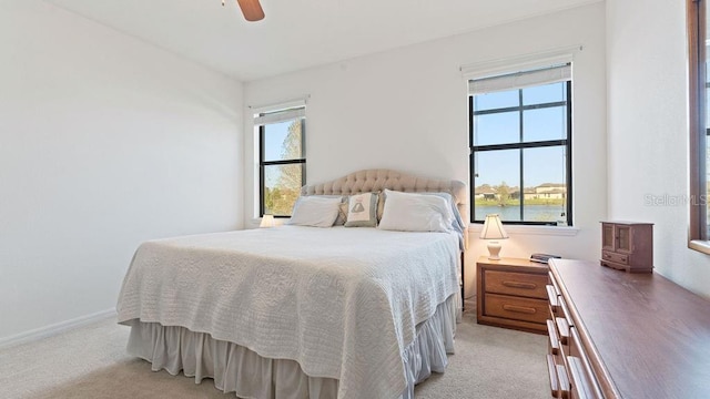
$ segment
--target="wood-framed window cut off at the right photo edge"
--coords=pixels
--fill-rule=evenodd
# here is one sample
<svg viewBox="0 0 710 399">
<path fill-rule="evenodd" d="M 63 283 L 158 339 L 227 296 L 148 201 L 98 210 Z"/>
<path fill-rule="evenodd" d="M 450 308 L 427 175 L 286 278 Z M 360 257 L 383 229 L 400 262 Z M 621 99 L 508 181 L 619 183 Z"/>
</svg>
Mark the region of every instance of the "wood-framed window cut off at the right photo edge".
<svg viewBox="0 0 710 399">
<path fill-rule="evenodd" d="M 708 79 L 708 7 L 706 0 L 687 0 L 688 9 L 688 65 L 689 65 L 689 211 L 688 246 L 710 254 L 710 212 L 708 212 L 708 121 L 710 114 L 710 80 Z"/>
</svg>

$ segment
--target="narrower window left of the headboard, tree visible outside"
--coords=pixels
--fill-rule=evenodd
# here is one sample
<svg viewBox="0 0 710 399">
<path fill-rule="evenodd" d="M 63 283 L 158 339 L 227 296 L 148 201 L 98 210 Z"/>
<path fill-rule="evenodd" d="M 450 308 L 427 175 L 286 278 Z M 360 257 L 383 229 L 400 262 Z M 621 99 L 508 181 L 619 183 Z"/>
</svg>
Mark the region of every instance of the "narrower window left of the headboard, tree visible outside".
<svg viewBox="0 0 710 399">
<path fill-rule="evenodd" d="M 305 108 L 290 108 L 254 115 L 258 126 L 260 216 L 291 216 L 306 182 Z"/>
</svg>

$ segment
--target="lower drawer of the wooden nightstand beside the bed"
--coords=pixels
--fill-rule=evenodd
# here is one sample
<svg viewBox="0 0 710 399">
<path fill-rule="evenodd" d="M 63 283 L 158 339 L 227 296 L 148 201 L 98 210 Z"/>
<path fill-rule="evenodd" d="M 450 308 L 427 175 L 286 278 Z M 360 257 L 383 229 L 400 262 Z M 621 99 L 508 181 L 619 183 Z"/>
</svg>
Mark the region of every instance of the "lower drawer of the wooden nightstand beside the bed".
<svg viewBox="0 0 710 399">
<path fill-rule="evenodd" d="M 497 294 L 485 294 L 486 316 L 504 317 L 514 320 L 524 320 L 547 325 L 549 305 L 547 300 L 509 297 Z"/>
</svg>

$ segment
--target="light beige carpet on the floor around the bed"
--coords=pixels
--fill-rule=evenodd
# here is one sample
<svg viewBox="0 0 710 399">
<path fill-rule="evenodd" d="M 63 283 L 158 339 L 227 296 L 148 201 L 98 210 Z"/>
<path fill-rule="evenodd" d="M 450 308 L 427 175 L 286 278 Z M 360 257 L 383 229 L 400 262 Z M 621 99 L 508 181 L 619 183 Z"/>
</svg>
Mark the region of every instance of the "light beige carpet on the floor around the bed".
<svg viewBox="0 0 710 399">
<path fill-rule="evenodd" d="M 469 307 L 470 309 L 471 307 Z M 1 398 L 235 398 L 211 379 L 166 371 L 125 354 L 129 328 L 114 319 L 0 351 Z M 549 398 L 547 337 L 481 326 L 465 313 L 456 354 L 443 375 L 415 389 L 416 398 Z"/>
</svg>

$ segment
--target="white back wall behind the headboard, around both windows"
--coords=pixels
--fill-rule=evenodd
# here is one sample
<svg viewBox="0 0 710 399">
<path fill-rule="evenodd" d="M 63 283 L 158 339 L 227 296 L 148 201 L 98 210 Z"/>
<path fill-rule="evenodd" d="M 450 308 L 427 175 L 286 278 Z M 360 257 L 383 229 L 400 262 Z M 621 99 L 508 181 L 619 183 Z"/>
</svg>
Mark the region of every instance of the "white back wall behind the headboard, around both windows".
<svg viewBox="0 0 710 399">
<path fill-rule="evenodd" d="M 467 182 L 467 85 L 459 66 L 576 44 L 584 45 L 574 61 L 574 215 L 579 232 L 557 236 L 517 228 L 503 255 L 549 252 L 598 259 L 599 221 L 607 213 L 604 3 L 250 82 L 245 105 L 311 94 L 308 183 L 369 167 Z M 244 122 L 245 132 L 252 132 L 251 121 Z M 257 162 L 250 133 L 244 147 L 248 221 L 255 215 Z M 468 264 L 485 250 L 473 238 Z M 468 276 L 473 270 L 469 266 Z M 473 293 L 473 280 L 467 280 Z"/>
</svg>

